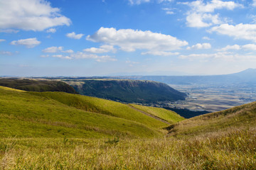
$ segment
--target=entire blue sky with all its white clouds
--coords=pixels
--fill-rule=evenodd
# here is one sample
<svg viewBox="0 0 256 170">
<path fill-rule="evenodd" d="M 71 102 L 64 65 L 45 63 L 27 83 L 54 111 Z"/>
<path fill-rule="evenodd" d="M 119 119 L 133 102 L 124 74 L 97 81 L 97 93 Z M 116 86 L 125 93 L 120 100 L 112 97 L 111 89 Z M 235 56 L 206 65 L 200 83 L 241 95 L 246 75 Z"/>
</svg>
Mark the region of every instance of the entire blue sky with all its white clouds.
<svg viewBox="0 0 256 170">
<path fill-rule="evenodd" d="M 0 0 L 0 76 L 256 68 L 256 0 Z"/>
</svg>

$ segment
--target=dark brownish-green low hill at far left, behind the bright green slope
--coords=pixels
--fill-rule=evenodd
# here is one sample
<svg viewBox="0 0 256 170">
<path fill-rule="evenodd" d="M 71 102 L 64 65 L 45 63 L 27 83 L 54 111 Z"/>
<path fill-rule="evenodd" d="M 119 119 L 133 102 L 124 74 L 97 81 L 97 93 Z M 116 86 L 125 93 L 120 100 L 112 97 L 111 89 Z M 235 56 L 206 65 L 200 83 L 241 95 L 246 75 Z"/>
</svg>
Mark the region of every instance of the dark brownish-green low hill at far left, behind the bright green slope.
<svg viewBox="0 0 256 170">
<path fill-rule="evenodd" d="M 76 94 L 72 86 L 62 81 L 38 80 L 38 79 L 0 79 L 0 86 L 24 91 L 63 91 Z"/>
</svg>

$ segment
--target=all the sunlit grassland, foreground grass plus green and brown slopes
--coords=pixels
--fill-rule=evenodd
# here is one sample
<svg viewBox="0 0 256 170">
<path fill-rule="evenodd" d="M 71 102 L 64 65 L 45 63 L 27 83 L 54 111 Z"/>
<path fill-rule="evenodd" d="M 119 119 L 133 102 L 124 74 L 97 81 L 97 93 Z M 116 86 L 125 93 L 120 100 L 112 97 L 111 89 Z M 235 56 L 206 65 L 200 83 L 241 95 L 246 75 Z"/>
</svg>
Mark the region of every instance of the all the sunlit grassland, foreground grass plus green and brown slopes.
<svg viewBox="0 0 256 170">
<path fill-rule="evenodd" d="M 103 99 L 0 94 L 0 169 L 256 169 L 256 103 L 188 120 L 132 105 L 169 126 Z"/>
</svg>

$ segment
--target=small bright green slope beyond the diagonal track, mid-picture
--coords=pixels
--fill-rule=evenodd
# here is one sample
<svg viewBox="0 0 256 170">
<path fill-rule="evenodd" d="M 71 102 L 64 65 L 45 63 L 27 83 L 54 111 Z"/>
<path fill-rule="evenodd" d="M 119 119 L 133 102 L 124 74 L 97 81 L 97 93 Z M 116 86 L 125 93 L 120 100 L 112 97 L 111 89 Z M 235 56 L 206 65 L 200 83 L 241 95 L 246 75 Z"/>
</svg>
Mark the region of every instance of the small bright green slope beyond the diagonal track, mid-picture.
<svg viewBox="0 0 256 170">
<path fill-rule="evenodd" d="M 178 115 L 174 111 L 169 111 L 164 108 L 154 108 L 154 107 L 141 106 L 141 105 L 135 105 L 135 104 L 129 104 L 129 105 L 131 105 L 134 108 L 137 108 L 141 111 L 144 111 L 146 113 L 154 115 L 158 118 L 166 120 L 169 123 L 177 123 L 182 120 L 185 120 L 185 118 L 181 117 L 181 115 Z"/>
</svg>

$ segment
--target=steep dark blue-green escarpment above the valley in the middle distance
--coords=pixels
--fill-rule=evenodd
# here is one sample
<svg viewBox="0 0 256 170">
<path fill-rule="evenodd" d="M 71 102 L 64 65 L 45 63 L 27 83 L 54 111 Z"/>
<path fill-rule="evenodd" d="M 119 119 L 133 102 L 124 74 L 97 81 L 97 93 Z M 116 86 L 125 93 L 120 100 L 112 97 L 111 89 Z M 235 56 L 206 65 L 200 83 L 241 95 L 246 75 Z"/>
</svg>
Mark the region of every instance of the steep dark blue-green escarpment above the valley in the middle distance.
<svg viewBox="0 0 256 170">
<path fill-rule="evenodd" d="M 156 81 L 86 79 L 66 81 L 79 94 L 126 103 L 157 103 L 184 100 L 186 94 Z"/>
</svg>

